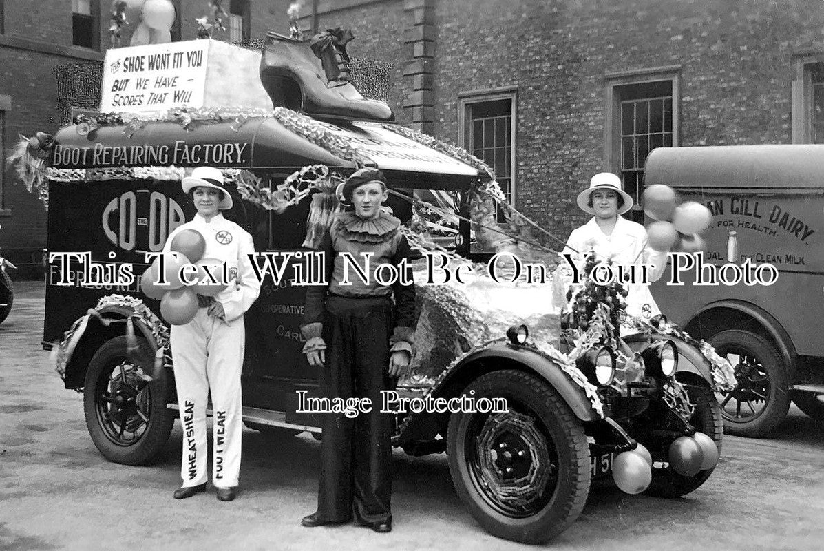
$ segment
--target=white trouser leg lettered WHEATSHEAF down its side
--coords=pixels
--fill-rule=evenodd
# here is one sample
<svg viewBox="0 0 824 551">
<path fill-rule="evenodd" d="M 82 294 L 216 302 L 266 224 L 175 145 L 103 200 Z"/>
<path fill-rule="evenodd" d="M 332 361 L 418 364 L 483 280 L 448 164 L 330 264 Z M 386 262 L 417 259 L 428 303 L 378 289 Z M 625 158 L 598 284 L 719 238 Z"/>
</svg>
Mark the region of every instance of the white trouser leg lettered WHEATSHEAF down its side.
<svg viewBox="0 0 824 551">
<path fill-rule="evenodd" d="M 175 360 L 175 385 L 183 429 L 180 477 L 183 486 L 198 486 L 207 479 L 206 379 L 207 336 L 202 327 L 206 308 L 200 308 L 190 323 L 171 326 L 171 354 Z"/>
</svg>

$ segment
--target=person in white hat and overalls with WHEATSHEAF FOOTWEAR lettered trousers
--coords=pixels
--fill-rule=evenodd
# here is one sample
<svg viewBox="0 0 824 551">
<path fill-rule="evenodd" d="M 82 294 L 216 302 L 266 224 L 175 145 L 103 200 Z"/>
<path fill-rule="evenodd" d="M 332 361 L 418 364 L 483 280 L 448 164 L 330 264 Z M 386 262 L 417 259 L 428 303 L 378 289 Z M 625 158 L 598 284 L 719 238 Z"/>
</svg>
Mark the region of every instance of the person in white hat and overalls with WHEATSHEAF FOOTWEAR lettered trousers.
<svg viewBox="0 0 824 551">
<path fill-rule="evenodd" d="M 178 233 L 197 230 L 206 240 L 204 258 L 225 261 L 230 281 L 214 299 L 198 295 L 201 308 L 190 323 L 171 326 L 183 428 L 183 485 L 175 491 L 175 498 L 192 497 L 206 489 L 206 404 L 211 389 L 212 483 L 218 499 L 231 502 L 241 468 L 243 314 L 260 294 L 260 282 L 247 256 L 255 252 L 255 246 L 249 233 L 219 212 L 232 208 L 232 197 L 223 189 L 222 172 L 212 167 L 195 168 L 191 177 L 183 179 L 183 191 L 190 193 L 198 214 L 169 235 L 164 251 L 169 251 Z"/>
</svg>

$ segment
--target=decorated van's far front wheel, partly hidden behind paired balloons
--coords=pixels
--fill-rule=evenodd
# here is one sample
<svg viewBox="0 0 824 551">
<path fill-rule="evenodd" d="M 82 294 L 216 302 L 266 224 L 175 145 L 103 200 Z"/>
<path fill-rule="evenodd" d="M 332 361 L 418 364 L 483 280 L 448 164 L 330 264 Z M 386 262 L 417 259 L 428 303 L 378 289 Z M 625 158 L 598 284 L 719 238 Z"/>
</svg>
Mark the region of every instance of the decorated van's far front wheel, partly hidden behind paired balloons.
<svg viewBox="0 0 824 551">
<path fill-rule="evenodd" d="M 721 438 L 723 436 L 723 417 L 721 406 L 715 399 L 712 390 L 707 387 L 685 385 L 691 403 L 695 404 L 695 411 L 690 417 L 690 424 L 696 431 L 703 432 L 715 442 L 721 453 Z M 715 468 L 699 471 L 691 477 L 685 477 L 672 469 L 653 469 L 653 481 L 645 491 L 650 496 L 681 497 L 694 491 L 707 481 Z"/>
</svg>

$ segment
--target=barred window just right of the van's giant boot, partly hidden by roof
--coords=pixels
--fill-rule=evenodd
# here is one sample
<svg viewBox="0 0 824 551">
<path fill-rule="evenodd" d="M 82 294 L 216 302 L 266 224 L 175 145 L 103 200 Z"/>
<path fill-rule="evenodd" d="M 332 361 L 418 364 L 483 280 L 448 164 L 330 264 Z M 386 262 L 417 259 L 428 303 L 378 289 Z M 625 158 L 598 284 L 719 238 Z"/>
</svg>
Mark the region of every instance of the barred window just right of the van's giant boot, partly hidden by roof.
<svg viewBox="0 0 824 551">
<path fill-rule="evenodd" d="M 515 206 L 515 120 L 517 96 L 514 90 L 461 94 L 459 118 L 461 139 L 467 151 L 486 162 L 495 172 L 509 205 Z M 498 212 L 499 222 L 506 221 Z"/>
</svg>

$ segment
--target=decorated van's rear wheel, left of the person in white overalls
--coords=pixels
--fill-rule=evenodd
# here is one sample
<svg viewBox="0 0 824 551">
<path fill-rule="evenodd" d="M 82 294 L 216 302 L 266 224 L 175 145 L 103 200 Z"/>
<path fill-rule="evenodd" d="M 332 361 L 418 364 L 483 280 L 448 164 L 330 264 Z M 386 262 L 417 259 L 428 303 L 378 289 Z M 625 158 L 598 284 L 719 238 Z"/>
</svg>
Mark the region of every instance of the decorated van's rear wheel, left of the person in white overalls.
<svg viewBox="0 0 824 551">
<path fill-rule="evenodd" d="M 138 338 L 143 372 L 154 354 Z M 83 410 L 91 440 L 106 459 L 126 465 L 145 464 L 169 439 L 175 413 L 166 407 L 173 381 L 164 371 L 145 384 L 126 355 L 126 337 L 105 341 L 89 362 L 83 389 Z"/>
</svg>

